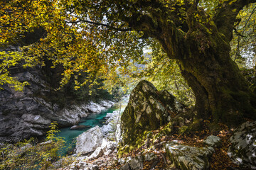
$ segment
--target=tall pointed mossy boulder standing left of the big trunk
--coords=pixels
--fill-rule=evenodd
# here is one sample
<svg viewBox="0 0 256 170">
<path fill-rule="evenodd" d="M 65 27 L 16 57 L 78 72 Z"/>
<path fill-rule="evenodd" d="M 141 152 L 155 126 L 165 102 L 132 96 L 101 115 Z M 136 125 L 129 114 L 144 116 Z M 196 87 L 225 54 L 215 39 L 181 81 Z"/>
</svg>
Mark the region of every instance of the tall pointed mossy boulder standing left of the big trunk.
<svg viewBox="0 0 256 170">
<path fill-rule="evenodd" d="M 145 130 L 156 130 L 169 122 L 183 105 L 168 91 L 157 91 L 149 81 L 140 81 L 132 90 L 122 113 L 121 129 L 124 144 L 135 145 Z"/>
</svg>

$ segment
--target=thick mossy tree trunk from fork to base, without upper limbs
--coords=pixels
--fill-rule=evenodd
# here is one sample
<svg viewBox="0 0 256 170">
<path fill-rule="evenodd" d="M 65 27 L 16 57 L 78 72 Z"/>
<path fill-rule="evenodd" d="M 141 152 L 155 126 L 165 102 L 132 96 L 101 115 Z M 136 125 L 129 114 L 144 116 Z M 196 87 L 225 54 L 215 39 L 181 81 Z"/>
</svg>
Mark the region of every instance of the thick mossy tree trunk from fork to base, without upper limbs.
<svg viewBox="0 0 256 170">
<path fill-rule="evenodd" d="M 256 96 L 231 60 L 229 43 L 217 29 L 214 32 L 199 28 L 187 33 L 181 42 L 173 35 L 166 37 L 169 33 L 157 38 L 168 56 L 178 60 L 181 74 L 193 89 L 197 118 L 212 118 L 230 126 L 245 118 L 255 120 Z"/>
</svg>

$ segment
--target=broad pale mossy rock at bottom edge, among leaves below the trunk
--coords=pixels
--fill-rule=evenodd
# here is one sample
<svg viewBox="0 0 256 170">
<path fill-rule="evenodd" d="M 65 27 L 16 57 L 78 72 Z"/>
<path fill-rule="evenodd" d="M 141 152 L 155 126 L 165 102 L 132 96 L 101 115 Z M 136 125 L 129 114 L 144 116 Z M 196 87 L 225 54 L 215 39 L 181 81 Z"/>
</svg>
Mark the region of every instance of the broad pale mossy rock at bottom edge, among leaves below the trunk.
<svg viewBox="0 0 256 170">
<path fill-rule="evenodd" d="M 171 162 L 181 170 L 208 169 L 208 158 L 214 152 L 213 147 L 189 147 L 178 142 L 170 142 L 165 148 Z"/>
</svg>

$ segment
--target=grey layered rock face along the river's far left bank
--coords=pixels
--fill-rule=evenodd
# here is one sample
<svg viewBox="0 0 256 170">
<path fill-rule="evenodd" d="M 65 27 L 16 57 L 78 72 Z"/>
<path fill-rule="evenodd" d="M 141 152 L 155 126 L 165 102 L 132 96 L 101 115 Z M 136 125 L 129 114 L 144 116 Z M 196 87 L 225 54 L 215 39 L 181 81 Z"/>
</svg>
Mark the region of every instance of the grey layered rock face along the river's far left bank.
<svg viewBox="0 0 256 170">
<path fill-rule="evenodd" d="M 18 142 L 31 136 L 41 136 L 51 122 L 59 126 L 71 126 L 90 112 L 100 112 L 113 105 L 111 101 L 101 104 L 90 102 L 60 108 L 47 101 L 48 84 L 40 69 L 17 70 L 14 76 L 19 81 L 28 81 L 23 91 L 15 91 L 9 85 L 0 91 L 0 142 Z M 97 109 L 96 109 L 97 108 Z"/>
</svg>

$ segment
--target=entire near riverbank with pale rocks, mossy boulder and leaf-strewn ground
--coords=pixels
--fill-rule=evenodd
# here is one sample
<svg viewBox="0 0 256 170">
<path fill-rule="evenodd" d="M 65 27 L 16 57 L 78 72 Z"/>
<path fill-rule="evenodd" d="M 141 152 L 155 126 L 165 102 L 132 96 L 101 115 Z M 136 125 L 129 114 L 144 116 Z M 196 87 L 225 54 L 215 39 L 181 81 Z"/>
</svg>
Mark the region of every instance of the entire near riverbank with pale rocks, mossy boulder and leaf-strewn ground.
<svg viewBox="0 0 256 170">
<path fill-rule="evenodd" d="M 161 114 L 164 116 L 167 114 L 166 118 L 168 118 L 168 114 L 174 114 L 171 111 L 179 112 L 178 108 L 181 108 L 181 105 L 174 96 L 167 94 L 166 91 L 159 93 L 153 87 L 149 82 L 143 81 L 132 91 L 131 96 L 135 97 L 130 97 L 128 106 L 122 113 L 121 129 L 116 113 L 108 115 L 110 116 L 107 120 L 109 124 L 102 128 L 92 128 L 80 135 L 77 140 L 76 154 L 72 156 L 73 163 L 62 169 L 255 169 L 255 122 L 246 122 L 235 130 L 223 127 L 218 132 L 210 132 L 205 125 L 202 125 L 201 132 L 184 135 L 183 129 L 191 120 L 177 115 L 178 117 L 171 118 L 167 125 L 144 130 L 141 135 L 129 133 L 133 128 L 138 130 L 135 124 L 129 125 L 131 130 L 124 131 L 125 126 L 131 121 L 136 121 L 138 125 L 148 121 L 142 119 L 145 110 L 147 115 L 152 116 L 156 113 L 159 115 L 158 119 L 154 119 L 154 125 L 161 123 Z M 147 96 L 151 100 L 146 101 L 147 98 L 143 99 L 143 96 L 148 94 L 148 91 L 152 97 Z M 154 92 L 164 93 L 166 97 L 158 98 Z M 140 97 L 136 97 L 138 94 Z M 170 100 L 169 97 L 172 99 Z M 166 107 L 163 100 L 173 102 L 169 103 L 170 107 Z M 144 107 L 141 107 L 142 104 Z M 131 109 L 131 106 L 134 109 Z M 149 111 L 144 108 L 153 109 Z M 166 109 L 171 111 L 166 112 Z M 124 123 L 128 121 L 123 119 L 124 116 L 131 118 L 129 122 Z M 174 123 L 176 129 L 172 127 Z M 120 130 L 123 131 L 120 132 Z M 137 141 L 125 142 L 132 137 L 131 135 L 135 135 L 134 139 Z M 129 152 L 124 152 L 125 150 Z"/>
</svg>

